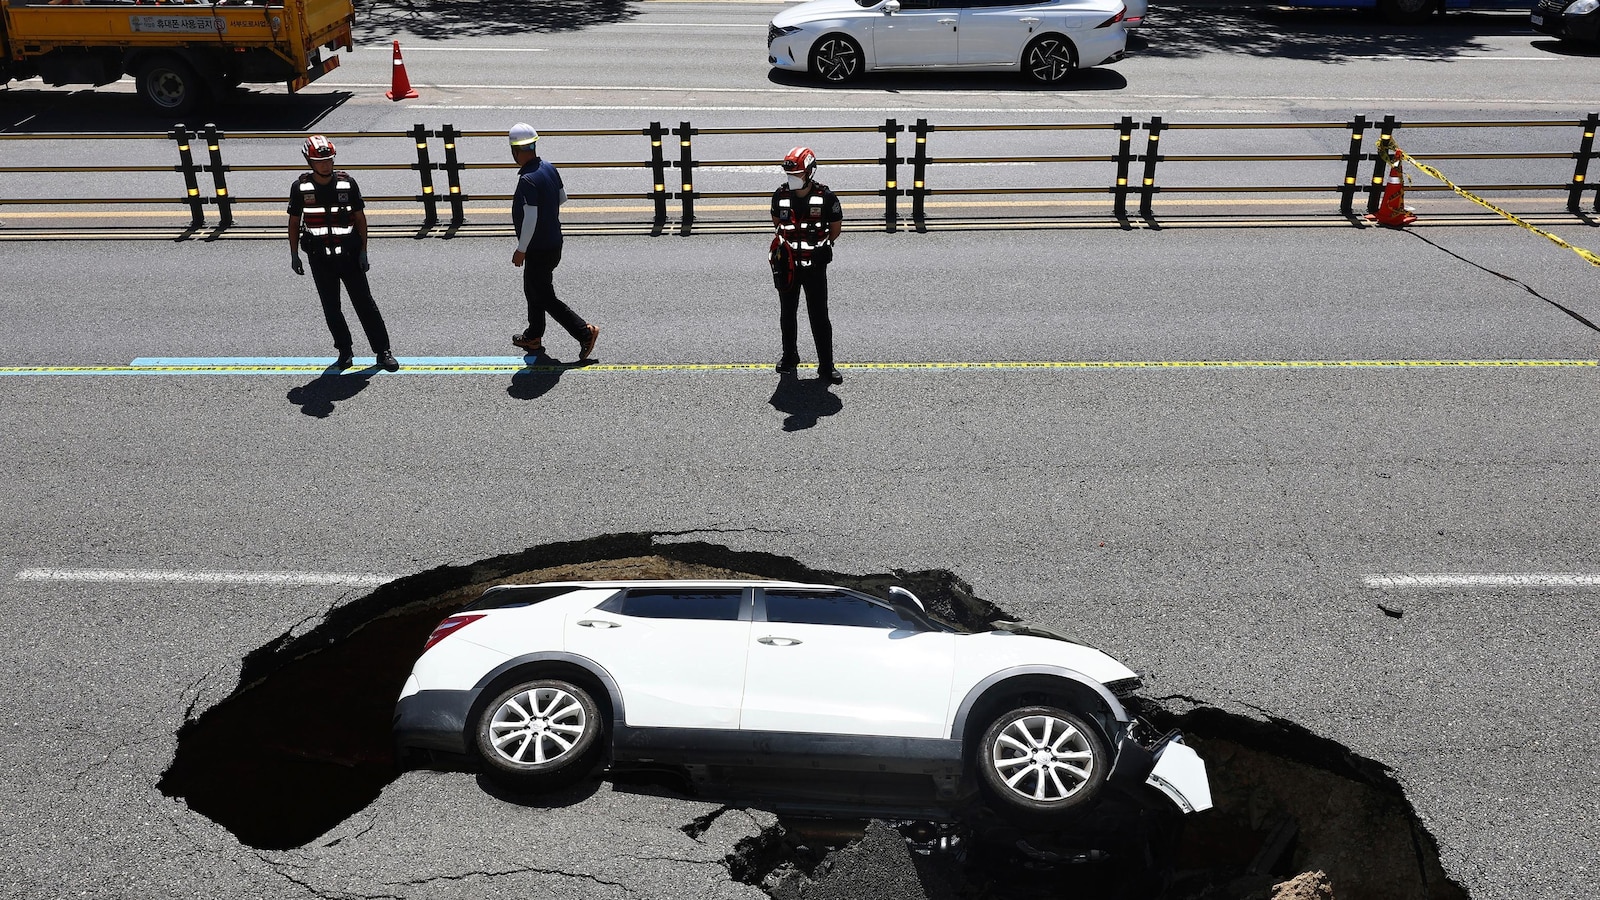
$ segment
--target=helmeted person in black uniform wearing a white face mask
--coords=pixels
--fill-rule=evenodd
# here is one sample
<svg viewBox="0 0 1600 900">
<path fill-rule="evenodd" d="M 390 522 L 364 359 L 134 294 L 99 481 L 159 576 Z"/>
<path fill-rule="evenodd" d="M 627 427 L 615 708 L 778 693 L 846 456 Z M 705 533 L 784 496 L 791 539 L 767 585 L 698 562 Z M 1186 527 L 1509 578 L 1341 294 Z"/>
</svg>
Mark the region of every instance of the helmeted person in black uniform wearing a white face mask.
<svg viewBox="0 0 1600 900">
<path fill-rule="evenodd" d="M 795 322 L 800 290 L 816 341 L 816 376 L 830 384 L 843 384 L 845 376 L 834 368 L 834 325 L 827 319 L 827 264 L 834 259 L 834 242 L 843 227 L 845 211 L 827 184 L 816 181 L 816 154 L 795 147 L 784 157 L 786 183 L 773 192 L 771 266 L 778 287 L 778 328 L 784 351 L 778 372 L 789 373 L 800 365 L 795 349 Z"/>
</svg>

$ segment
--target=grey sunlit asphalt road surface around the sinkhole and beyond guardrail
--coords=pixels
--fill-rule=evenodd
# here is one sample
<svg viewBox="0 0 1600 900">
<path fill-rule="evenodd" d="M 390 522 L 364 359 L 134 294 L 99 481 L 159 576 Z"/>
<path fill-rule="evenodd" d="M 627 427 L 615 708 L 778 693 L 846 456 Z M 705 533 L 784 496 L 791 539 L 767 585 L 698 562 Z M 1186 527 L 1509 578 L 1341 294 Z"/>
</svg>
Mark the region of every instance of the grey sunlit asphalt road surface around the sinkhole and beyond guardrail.
<svg viewBox="0 0 1600 900">
<path fill-rule="evenodd" d="M 571 98 L 595 96 L 589 85 L 627 88 L 634 72 L 619 61 L 637 54 L 629 40 L 648 37 L 651 16 L 742 26 L 768 14 L 626 10 L 626 22 L 584 32 L 456 37 L 547 45 L 565 53 L 573 86 L 472 88 L 472 102 L 438 114 L 490 128 L 579 106 Z M 1379 40 L 1326 13 L 1306 21 Z M 1547 53 L 1510 26 L 1482 37 L 1459 21 L 1406 32 L 1403 50 Z M 589 51 L 595 35 L 605 40 Z M 738 86 L 755 72 L 762 91 L 790 90 L 765 82 L 758 61 L 688 48 L 693 64 L 674 69 L 683 85 Z M 1216 93 L 1251 77 L 1206 77 L 1219 53 L 1150 54 L 1189 67 L 1203 85 L 1195 99 L 1189 86 L 1134 86 L 1142 72 L 1122 64 L 1128 86 L 1093 102 L 1214 112 L 1248 96 L 1254 110 L 1312 117 L 1397 94 L 1461 117 L 1594 106 L 1590 82 L 1557 74 L 1592 59 L 1560 54 L 1494 75 L 1462 59 L 1387 61 L 1371 75 L 1350 62 L 1317 82 L 1301 67 L 1331 64 L 1291 53 L 1280 77 L 1296 91 L 1274 99 Z M 386 75 L 378 56 L 371 72 Z M 474 83 L 485 64 L 472 59 L 493 56 L 408 59 L 430 98 Z M 453 58 L 442 66 L 462 69 L 448 82 L 419 64 Z M 381 78 L 362 64 L 338 75 L 365 93 L 314 120 L 414 120 L 421 110 L 371 99 L 360 85 Z M 1392 72 L 1406 74 L 1405 93 L 1384 86 Z M 1157 90 L 1184 98 L 1146 93 Z M 984 93 L 933 101 L 992 102 Z M 723 98 L 672 102 L 742 102 Z M 602 91 L 594 102 L 618 101 Z M 40 122 L 82 115 L 72 106 L 46 98 Z M 648 110 L 552 112 L 576 127 Z M 1587 227 L 1560 231 L 1595 243 Z M 838 572 L 950 570 L 1130 663 L 1152 697 L 1285 719 L 1390 767 L 1472 897 L 1592 894 L 1594 267 L 1509 227 L 853 232 L 834 271 L 846 383 L 824 389 L 736 367 L 774 357 L 763 247 L 750 235 L 574 239 L 558 287 L 605 331 L 600 365 L 555 378 L 408 365 L 507 356 L 518 282 L 506 242 L 384 240 L 373 275 L 403 368 L 326 380 L 37 373 L 331 357 L 312 288 L 280 243 L 5 243 L 0 367 L 35 372 L 0 368 L 0 610 L 11 623 L 0 854 L 13 863 L 0 894 L 760 897 L 723 860 L 763 814 L 726 812 L 691 836 L 683 826 L 718 807 L 653 790 L 600 785 L 530 806 L 467 775 L 411 773 L 317 841 L 267 852 L 157 788 L 178 729 L 235 690 L 246 655 L 370 591 L 307 581 L 635 532 Z M 1285 360 L 1317 365 L 1258 365 Z M 936 365 L 989 362 L 1043 365 Z M 1179 365 L 1150 365 L 1163 362 Z M 1410 365 L 1424 362 L 1443 365 Z M 82 570 L 149 580 L 85 581 Z M 256 578 L 195 580 L 219 572 Z M 1456 578 L 1418 586 L 1440 573 Z M 898 878 L 880 890 L 930 892 L 914 871 Z"/>
</svg>

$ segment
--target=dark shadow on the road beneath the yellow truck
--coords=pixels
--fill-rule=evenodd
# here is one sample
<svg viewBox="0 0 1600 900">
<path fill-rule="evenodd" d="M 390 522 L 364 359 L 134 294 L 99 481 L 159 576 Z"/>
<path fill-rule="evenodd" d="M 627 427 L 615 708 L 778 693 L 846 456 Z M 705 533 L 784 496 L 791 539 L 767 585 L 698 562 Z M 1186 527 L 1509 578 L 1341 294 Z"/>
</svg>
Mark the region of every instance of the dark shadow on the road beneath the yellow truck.
<svg viewBox="0 0 1600 900">
<path fill-rule="evenodd" d="M 314 88 L 298 94 L 282 91 L 282 86 L 269 85 L 259 85 L 259 90 L 243 86 L 198 117 L 227 131 L 307 131 L 355 96 L 350 91 L 317 93 Z M 11 85 L 0 96 L 5 98 L 0 133 L 10 135 L 166 131 L 186 119 L 197 119 L 194 112 L 186 117 L 158 115 L 122 91 Z"/>
</svg>

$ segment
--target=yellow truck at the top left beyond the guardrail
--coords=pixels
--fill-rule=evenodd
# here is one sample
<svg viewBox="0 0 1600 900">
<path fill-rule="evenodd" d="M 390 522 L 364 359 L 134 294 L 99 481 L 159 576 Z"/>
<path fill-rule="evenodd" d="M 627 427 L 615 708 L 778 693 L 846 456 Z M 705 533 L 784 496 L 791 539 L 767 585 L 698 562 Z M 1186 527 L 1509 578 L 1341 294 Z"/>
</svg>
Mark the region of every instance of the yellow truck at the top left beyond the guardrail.
<svg viewBox="0 0 1600 900">
<path fill-rule="evenodd" d="M 298 91 L 350 50 L 350 0 L 0 0 L 0 85 L 109 85 L 134 77 L 157 112 L 182 115 L 242 83 Z"/>
</svg>

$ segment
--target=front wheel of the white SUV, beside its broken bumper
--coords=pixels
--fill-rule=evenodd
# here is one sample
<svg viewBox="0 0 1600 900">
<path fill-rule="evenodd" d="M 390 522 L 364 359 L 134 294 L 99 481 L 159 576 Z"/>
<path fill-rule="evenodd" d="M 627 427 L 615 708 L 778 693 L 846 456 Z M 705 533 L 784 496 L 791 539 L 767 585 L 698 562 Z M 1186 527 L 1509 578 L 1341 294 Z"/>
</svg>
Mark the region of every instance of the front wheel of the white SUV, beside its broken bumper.
<svg viewBox="0 0 1600 900">
<path fill-rule="evenodd" d="M 1110 751 L 1077 713 L 1024 706 L 984 730 L 973 764 L 997 812 L 1061 818 L 1094 804 L 1110 773 Z"/>
</svg>

